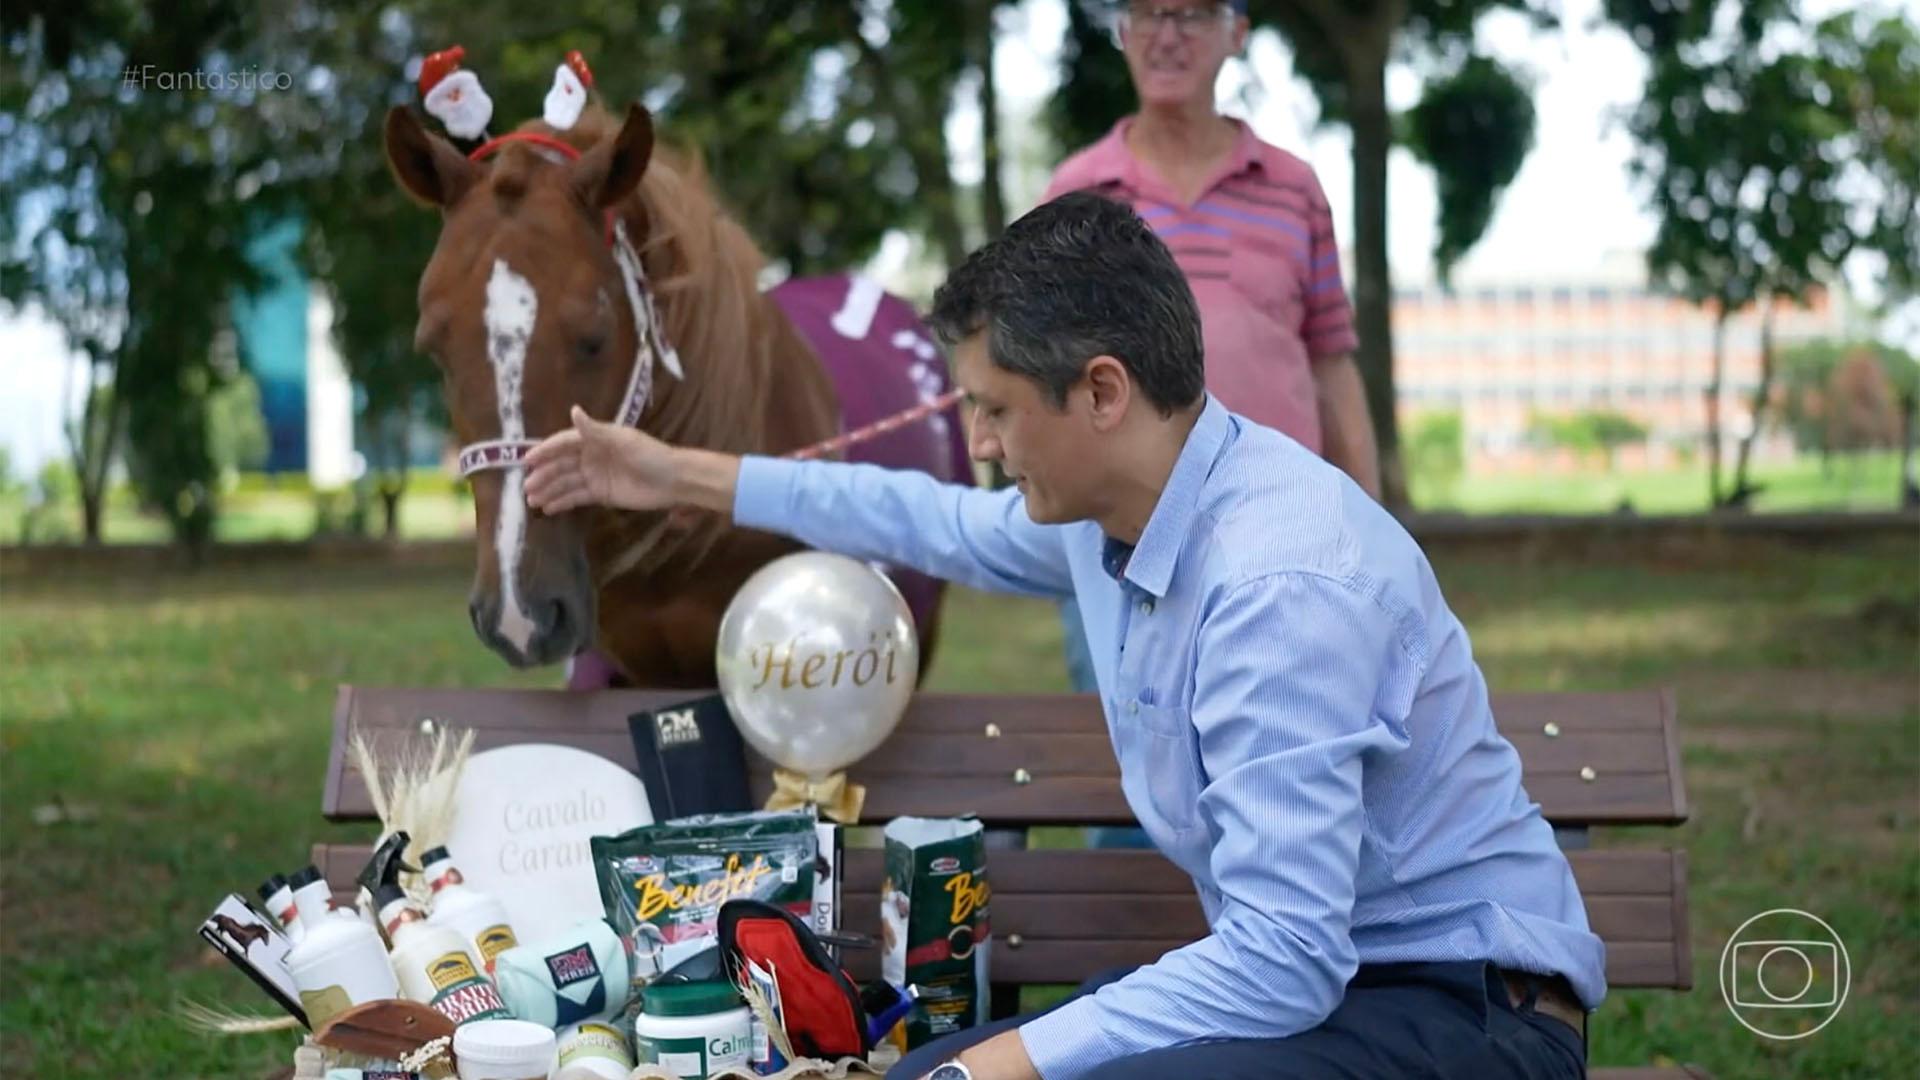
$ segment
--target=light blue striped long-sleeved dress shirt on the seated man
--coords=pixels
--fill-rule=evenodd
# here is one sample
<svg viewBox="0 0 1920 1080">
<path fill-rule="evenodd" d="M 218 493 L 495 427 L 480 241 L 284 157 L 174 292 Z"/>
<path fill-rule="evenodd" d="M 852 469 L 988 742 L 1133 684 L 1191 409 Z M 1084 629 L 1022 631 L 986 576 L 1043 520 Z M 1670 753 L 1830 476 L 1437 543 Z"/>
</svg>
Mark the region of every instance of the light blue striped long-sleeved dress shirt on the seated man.
<svg viewBox="0 0 1920 1080">
<path fill-rule="evenodd" d="M 1284 434 L 1208 398 L 1131 550 L 1035 525 L 1016 490 L 820 461 L 749 457 L 735 521 L 1079 598 L 1127 803 L 1212 934 L 1023 1024 L 1046 1080 L 1309 1030 L 1361 963 L 1484 959 L 1605 995 L 1605 947 L 1425 553 Z"/>
</svg>

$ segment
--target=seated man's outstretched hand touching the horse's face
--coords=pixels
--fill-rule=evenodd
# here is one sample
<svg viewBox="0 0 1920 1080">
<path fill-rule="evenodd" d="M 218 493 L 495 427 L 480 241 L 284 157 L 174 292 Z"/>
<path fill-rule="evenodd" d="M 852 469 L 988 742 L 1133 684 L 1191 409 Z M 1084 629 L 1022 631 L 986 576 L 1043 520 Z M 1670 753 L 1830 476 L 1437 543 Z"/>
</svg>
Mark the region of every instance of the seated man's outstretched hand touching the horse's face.
<svg viewBox="0 0 1920 1080">
<path fill-rule="evenodd" d="M 680 450 L 643 430 L 601 423 L 580 405 L 574 427 L 526 454 L 526 503 L 543 513 L 582 505 L 666 509 L 697 505 L 730 513 L 739 457 Z"/>
</svg>

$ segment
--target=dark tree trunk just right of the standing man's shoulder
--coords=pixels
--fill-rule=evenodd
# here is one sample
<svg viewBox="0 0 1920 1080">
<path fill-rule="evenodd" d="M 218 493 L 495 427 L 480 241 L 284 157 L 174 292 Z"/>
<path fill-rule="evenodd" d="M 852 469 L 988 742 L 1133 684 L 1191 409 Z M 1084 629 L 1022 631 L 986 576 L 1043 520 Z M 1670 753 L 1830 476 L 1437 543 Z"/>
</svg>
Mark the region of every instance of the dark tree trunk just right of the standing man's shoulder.
<svg viewBox="0 0 1920 1080">
<path fill-rule="evenodd" d="M 1386 152 L 1394 138 L 1386 111 L 1386 42 L 1392 31 L 1377 37 L 1373 46 L 1352 42 L 1346 54 L 1354 125 L 1354 329 L 1359 332 L 1356 359 L 1367 386 L 1367 413 L 1380 450 L 1380 502 L 1404 509 L 1407 477 L 1394 413 L 1394 281 L 1386 261 Z"/>
</svg>

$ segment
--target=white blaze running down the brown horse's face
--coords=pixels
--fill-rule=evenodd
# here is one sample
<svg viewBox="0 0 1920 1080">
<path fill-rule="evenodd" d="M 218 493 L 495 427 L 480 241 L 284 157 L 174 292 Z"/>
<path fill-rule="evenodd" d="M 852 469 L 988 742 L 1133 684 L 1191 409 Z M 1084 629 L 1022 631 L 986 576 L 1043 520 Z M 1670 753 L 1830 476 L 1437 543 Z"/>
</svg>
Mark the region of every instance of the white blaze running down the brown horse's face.
<svg viewBox="0 0 1920 1080">
<path fill-rule="evenodd" d="M 507 259 L 493 259 L 486 282 L 486 357 L 493 365 L 493 396 L 499 402 L 499 438 L 526 438 L 520 411 L 520 382 L 526 375 L 526 344 L 534 340 L 540 300 L 534 284 L 513 271 Z M 493 515 L 493 552 L 499 553 L 499 636 L 526 651 L 534 621 L 520 611 L 520 546 L 526 544 L 526 471 L 518 465 L 501 479 L 499 513 Z"/>
</svg>

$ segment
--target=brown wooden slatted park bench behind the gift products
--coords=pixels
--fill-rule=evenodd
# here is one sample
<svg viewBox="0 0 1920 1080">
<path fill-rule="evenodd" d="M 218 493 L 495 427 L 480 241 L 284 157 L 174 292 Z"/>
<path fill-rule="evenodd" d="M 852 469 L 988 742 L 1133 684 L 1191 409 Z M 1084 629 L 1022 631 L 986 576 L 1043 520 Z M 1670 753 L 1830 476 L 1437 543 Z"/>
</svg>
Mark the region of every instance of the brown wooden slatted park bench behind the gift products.
<svg viewBox="0 0 1920 1080">
<path fill-rule="evenodd" d="M 323 811 L 332 821 L 372 821 L 367 786 L 346 753 L 353 730 L 409 738 L 438 719 L 474 728 L 476 751 L 553 742 L 634 769 L 628 717 L 691 696 L 348 686 L 334 711 Z M 1686 851 L 1588 846 L 1594 826 L 1686 821 L 1672 694 L 1503 694 L 1494 696 L 1494 715 L 1607 944 L 1609 986 L 1692 988 Z M 764 799 L 770 767 L 751 761 L 751 769 L 755 798 Z M 993 830 L 995 1015 L 1012 1015 L 1025 986 L 1077 984 L 1110 967 L 1152 963 L 1208 932 L 1192 880 L 1158 851 L 1025 844 L 1035 828 L 1135 824 L 1092 696 L 920 694 L 887 744 L 851 774 L 868 790 L 866 822 L 975 815 Z M 317 846 L 313 857 L 346 899 L 367 846 Z M 877 938 L 881 876 L 877 849 L 849 849 L 845 928 Z M 877 951 L 852 951 L 847 965 L 856 978 L 874 978 Z M 1592 1026 L 1603 1022 L 1605 1007 Z M 1682 1080 L 1695 1072 L 1597 1068 L 1594 1076 Z"/>
</svg>

